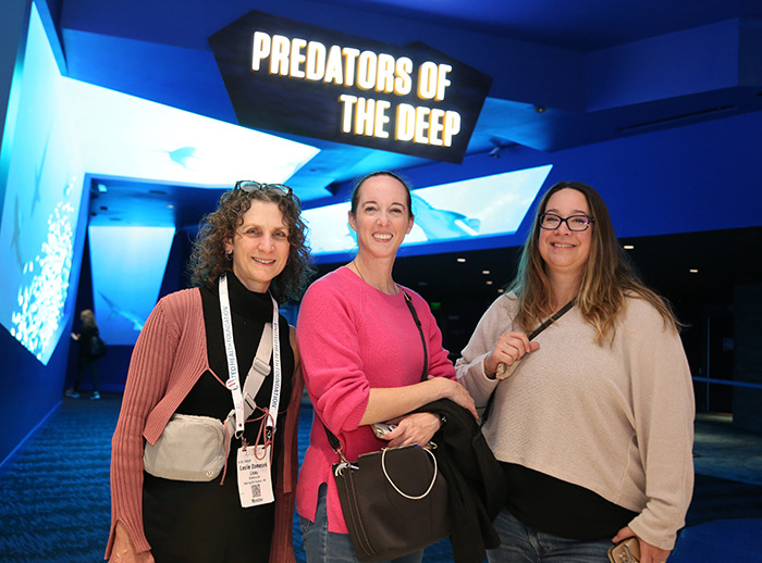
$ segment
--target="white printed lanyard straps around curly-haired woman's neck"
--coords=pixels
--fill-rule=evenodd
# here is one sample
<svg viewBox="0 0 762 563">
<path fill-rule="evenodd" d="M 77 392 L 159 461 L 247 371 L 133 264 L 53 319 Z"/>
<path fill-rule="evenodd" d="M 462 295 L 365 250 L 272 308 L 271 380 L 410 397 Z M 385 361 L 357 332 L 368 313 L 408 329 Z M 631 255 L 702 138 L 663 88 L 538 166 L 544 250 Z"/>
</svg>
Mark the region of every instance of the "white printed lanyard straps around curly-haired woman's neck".
<svg viewBox="0 0 762 563">
<path fill-rule="evenodd" d="M 267 428 L 270 438 L 278 421 L 278 408 L 281 401 L 281 340 L 278 326 L 278 302 L 272 299 L 272 364 L 273 381 L 272 396 L 270 397 L 270 410 L 268 411 Z M 222 313 L 222 334 L 225 341 L 225 356 L 228 359 L 229 377 L 225 387 L 233 396 L 233 409 L 235 410 L 235 434 L 241 436 L 244 431 L 246 415 L 244 414 L 244 398 L 241 391 L 241 379 L 238 376 L 238 361 L 235 356 L 235 342 L 233 341 L 233 317 L 230 309 L 230 297 L 228 293 L 228 278 L 220 276 L 220 312 Z M 266 327 L 267 328 L 267 327 Z M 256 360 L 256 359 L 255 359 Z M 254 397 L 251 398 L 254 399 Z M 272 421 L 272 422 L 270 422 Z"/>
</svg>

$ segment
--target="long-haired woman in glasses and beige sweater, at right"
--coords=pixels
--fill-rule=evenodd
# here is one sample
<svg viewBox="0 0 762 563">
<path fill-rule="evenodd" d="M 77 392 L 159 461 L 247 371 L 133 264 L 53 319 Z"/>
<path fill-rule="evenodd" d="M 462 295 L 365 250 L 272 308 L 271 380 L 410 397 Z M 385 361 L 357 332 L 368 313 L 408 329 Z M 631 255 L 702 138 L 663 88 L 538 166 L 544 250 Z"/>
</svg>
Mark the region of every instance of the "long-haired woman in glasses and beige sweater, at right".
<svg viewBox="0 0 762 563">
<path fill-rule="evenodd" d="M 545 193 L 511 291 L 456 370 L 477 404 L 494 393 L 483 433 L 508 499 L 490 563 L 604 563 L 634 536 L 641 563 L 667 560 L 693 485 L 690 372 L 669 306 L 636 275 L 595 190 Z"/>
</svg>

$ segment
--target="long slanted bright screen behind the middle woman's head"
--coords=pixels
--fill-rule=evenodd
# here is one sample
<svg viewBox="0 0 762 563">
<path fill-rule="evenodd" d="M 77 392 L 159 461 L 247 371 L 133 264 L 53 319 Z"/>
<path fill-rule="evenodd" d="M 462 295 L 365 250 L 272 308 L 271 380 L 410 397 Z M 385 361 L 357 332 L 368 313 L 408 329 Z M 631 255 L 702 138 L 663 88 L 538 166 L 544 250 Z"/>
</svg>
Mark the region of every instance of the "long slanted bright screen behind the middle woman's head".
<svg viewBox="0 0 762 563">
<path fill-rule="evenodd" d="M 415 226 L 403 248 L 427 252 L 427 245 L 452 241 L 458 250 L 474 250 L 484 248 L 487 239 L 516 233 L 551 168 L 549 164 L 414 190 Z M 345 202 L 304 212 L 318 262 L 341 261 L 357 247 L 348 211 Z"/>
</svg>

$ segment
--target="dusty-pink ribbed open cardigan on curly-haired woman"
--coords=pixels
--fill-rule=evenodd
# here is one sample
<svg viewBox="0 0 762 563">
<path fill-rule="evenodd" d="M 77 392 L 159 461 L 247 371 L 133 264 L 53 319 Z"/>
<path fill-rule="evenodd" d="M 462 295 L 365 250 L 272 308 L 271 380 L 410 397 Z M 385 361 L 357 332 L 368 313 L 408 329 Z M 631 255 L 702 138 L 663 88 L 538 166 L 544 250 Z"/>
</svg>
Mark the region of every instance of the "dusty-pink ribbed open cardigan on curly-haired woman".
<svg viewBox="0 0 762 563">
<path fill-rule="evenodd" d="M 292 348 L 296 352 L 292 331 Z M 304 381 L 298 355 L 284 431 L 283 476 L 275 488 L 275 528 L 270 563 L 295 563 L 292 545 L 294 488 L 298 471 L 298 412 Z M 144 438 L 156 442 L 198 378 L 211 371 L 207 358 L 201 293 L 185 289 L 161 299 L 148 317 L 133 351 L 122 411 L 112 440 L 111 556 L 114 527 L 121 521 L 138 552 L 150 549 L 143 529 Z M 226 377 L 224 377 L 226 378 Z M 223 378 L 223 379 L 224 379 Z"/>
</svg>

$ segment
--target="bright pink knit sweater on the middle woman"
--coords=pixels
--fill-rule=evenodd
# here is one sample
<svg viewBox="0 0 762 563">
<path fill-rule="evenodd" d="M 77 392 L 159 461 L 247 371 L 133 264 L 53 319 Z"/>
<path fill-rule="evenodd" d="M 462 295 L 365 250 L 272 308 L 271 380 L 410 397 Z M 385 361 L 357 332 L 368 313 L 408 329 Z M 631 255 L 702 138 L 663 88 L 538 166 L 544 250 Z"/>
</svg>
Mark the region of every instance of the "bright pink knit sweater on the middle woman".
<svg viewBox="0 0 762 563">
<path fill-rule="evenodd" d="M 429 351 L 429 374 L 455 379 L 455 368 L 442 348 L 442 334 L 431 311 L 416 292 L 413 298 Z M 371 387 L 403 387 L 420 381 L 423 350 L 420 334 L 402 293 L 388 296 L 341 267 L 307 290 L 296 329 L 305 385 L 317 417 L 296 489 L 296 509 L 315 521 L 318 488 L 328 483 L 328 529 L 347 534 L 331 465 L 331 449 L 320 421 L 341 440 L 354 461 L 386 442 L 369 427 L 359 427 Z"/>
</svg>

